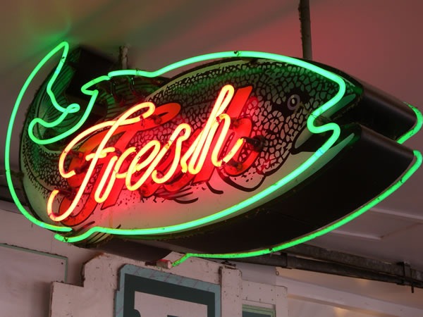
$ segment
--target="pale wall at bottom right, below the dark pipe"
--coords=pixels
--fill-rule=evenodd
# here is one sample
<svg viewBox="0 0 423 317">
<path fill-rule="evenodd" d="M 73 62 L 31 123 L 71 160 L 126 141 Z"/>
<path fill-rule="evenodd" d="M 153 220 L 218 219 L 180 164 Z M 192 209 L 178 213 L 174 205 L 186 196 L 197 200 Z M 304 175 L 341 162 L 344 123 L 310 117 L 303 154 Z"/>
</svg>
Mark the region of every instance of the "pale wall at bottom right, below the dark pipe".
<svg viewBox="0 0 423 317">
<path fill-rule="evenodd" d="M 401 285 L 255 264 L 237 263 L 237 268 L 243 272 L 243 280 L 287 287 L 290 317 L 423 316 L 421 307 L 407 306 L 400 301 L 403 296 L 422 298 L 422 290 L 416 289 L 417 294 L 414 295 L 410 288 Z M 321 275 L 324 277 L 319 280 Z M 336 287 L 323 287 L 323 284 L 327 284 L 323 279 L 338 282 L 333 283 Z M 376 292 L 379 294 L 375 294 Z M 389 298 L 393 292 L 400 295 L 397 302 L 380 299 Z"/>
</svg>

